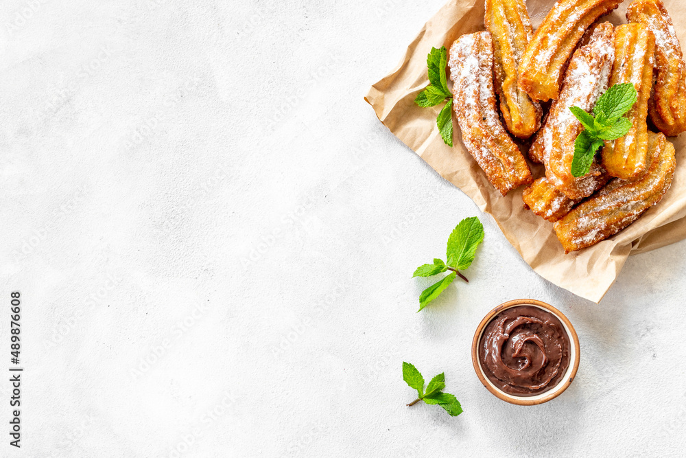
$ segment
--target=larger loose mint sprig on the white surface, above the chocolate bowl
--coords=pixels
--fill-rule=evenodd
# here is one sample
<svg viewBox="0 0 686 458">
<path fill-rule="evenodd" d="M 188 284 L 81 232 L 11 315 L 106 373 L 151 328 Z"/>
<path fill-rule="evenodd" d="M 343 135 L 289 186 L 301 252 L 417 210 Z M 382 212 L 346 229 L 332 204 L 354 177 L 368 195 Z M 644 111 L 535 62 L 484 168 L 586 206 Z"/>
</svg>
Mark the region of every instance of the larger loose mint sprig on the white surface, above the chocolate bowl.
<svg viewBox="0 0 686 458">
<path fill-rule="evenodd" d="M 448 247 L 446 249 L 447 262 L 436 258 L 434 264 L 423 264 L 419 266 L 412 277 L 431 277 L 438 275 L 445 271 L 451 271 L 447 276 L 443 277 L 439 282 L 432 284 L 429 288 L 423 290 L 419 296 L 419 310 L 421 312 L 429 302 L 433 301 L 447 288 L 453 280 L 460 276 L 465 282 L 469 280 L 460 273 L 471 266 L 476 255 L 476 249 L 484 240 L 484 226 L 481 224 L 479 218 L 472 216 L 471 218 L 464 218 L 453 229 L 448 238 Z"/>
</svg>

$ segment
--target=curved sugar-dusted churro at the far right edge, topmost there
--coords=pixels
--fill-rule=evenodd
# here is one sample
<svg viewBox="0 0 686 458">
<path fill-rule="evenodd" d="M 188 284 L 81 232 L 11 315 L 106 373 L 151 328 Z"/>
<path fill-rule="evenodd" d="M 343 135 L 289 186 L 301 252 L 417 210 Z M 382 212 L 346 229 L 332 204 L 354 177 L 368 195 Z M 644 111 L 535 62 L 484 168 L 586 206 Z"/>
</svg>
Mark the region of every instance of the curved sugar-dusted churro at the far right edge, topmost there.
<svg viewBox="0 0 686 458">
<path fill-rule="evenodd" d="M 672 18 L 660 0 L 638 0 L 629 5 L 626 19 L 646 25 L 655 36 L 657 80 L 648 102 L 653 124 L 667 137 L 686 130 L 686 64 Z"/>
</svg>

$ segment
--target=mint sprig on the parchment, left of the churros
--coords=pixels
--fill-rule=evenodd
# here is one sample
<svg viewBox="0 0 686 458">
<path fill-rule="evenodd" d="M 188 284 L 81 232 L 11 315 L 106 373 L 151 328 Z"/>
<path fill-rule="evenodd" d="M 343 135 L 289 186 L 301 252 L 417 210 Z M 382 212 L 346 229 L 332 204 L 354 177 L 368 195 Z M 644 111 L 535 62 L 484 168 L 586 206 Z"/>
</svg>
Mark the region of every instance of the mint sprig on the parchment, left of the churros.
<svg viewBox="0 0 686 458">
<path fill-rule="evenodd" d="M 423 108 L 429 106 L 436 106 L 443 100 L 448 99 L 448 103 L 443 106 L 436 124 L 438 125 L 438 132 L 446 145 L 453 146 L 453 95 L 448 89 L 447 77 L 445 74 L 445 66 L 448 62 L 448 51 L 445 46 L 440 49 L 432 47 L 427 55 L 427 67 L 429 73 L 429 86 L 417 94 L 414 103 Z"/>
</svg>

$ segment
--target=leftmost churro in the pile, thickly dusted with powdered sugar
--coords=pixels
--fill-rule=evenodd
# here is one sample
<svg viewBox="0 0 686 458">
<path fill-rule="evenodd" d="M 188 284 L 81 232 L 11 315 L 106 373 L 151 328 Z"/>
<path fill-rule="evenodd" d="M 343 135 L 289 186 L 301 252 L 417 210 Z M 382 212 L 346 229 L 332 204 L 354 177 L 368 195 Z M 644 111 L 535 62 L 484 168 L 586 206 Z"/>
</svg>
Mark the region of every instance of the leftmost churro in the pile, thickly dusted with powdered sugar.
<svg viewBox="0 0 686 458">
<path fill-rule="evenodd" d="M 523 155 L 500 122 L 493 89 L 493 41 L 488 32 L 467 34 L 450 47 L 453 109 L 462 141 L 503 195 L 532 182 Z"/>
</svg>

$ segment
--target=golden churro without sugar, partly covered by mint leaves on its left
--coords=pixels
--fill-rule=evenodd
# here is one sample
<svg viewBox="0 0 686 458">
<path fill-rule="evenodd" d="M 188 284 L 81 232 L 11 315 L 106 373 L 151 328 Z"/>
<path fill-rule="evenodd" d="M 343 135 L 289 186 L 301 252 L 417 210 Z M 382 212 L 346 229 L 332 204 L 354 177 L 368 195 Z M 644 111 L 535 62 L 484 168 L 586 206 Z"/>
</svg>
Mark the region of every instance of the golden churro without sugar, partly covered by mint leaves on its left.
<svg viewBox="0 0 686 458">
<path fill-rule="evenodd" d="M 630 82 L 638 100 L 626 117 L 629 132 L 619 139 L 606 141 L 602 163 L 608 174 L 624 180 L 635 179 L 646 168 L 648 159 L 648 99 L 652 89 L 655 37 L 643 24 L 625 24 L 615 29 L 615 63 L 610 87 Z"/>
</svg>

